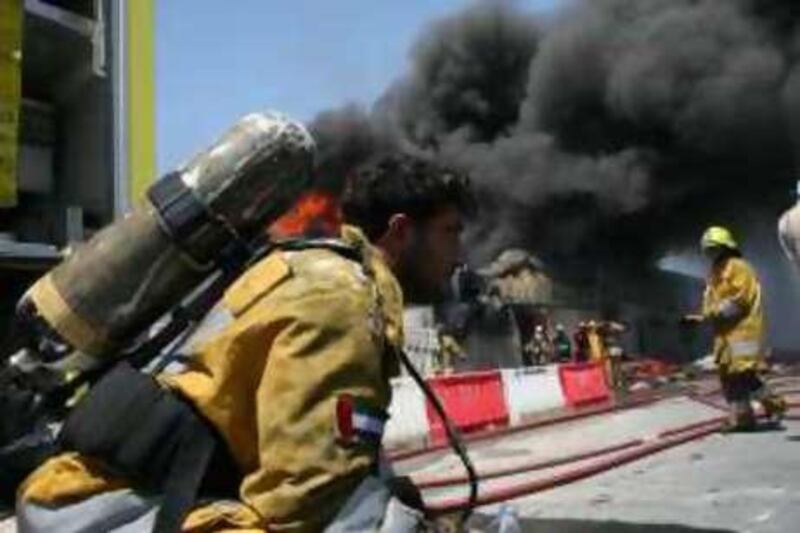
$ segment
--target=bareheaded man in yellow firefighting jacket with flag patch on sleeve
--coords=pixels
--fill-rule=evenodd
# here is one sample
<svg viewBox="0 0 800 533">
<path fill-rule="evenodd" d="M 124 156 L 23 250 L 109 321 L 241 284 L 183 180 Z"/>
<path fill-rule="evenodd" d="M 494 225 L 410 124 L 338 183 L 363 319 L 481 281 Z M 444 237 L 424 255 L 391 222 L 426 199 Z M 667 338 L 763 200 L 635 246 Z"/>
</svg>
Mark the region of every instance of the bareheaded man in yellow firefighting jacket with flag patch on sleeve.
<svg viewBox="0 0 800 533">
<path fill-rule="evenodd" d="M 188 367 L 161 377 L 242 473 L 238 494 L 196 505 L 184 531 L 322 531 L 353 513 L 358 529 L 380 523 L 378 450 L 398 364 L 386 347 L 402 343 L 404 293 L 435 299 L 457 264 L 471 203 L 466 178 L 387 157 L 356 173 L 343 201 L 360 229 L 345 226 L 341 240 L 360 260 L 278 251 L 227 290 Z M 26 480 L 17 515 L 22 531 L 146 531 L 159 501 L 65 453 Z"/>
</svg>

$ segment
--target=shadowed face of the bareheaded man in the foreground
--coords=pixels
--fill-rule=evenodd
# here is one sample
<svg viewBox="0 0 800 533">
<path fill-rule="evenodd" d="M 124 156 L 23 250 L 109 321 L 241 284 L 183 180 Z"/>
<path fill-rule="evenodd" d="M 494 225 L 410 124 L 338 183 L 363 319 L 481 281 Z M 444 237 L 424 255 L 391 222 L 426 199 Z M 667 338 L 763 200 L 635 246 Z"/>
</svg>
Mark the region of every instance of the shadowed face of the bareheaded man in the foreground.
<svg viewBox="0 0 800 533">
<path fill-rule="evenodd" d="M 443 296 L 461 258 L 463 227 L 462 215 L 455 207 L 443 207 L 412 224 L 401 279 L 406 299 L 430 303 Z"/>
</svg>

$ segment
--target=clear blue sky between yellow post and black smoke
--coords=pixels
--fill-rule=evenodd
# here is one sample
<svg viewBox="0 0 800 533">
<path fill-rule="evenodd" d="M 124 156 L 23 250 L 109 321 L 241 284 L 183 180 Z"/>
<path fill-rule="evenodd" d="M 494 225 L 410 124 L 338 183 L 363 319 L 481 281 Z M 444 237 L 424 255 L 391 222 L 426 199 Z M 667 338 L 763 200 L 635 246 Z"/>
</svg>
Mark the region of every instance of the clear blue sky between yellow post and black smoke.
<svg viewBox="0 0 800 533">
<path fill-rule="evenodd" d="M 251 111 L 308 121 L 370 104 L 405 70 L 425 25 L 471 1 L 157 1 L 159 173 Z M 545 11 L 562 0 L 517 1 Z"/>
</svg>

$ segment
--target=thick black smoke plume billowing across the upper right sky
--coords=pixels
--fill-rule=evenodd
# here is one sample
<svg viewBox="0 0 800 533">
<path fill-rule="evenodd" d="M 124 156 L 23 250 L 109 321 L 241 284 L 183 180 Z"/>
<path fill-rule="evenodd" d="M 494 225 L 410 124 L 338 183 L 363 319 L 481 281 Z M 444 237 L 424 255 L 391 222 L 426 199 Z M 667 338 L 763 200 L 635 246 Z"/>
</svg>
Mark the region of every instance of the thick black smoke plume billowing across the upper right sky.
<svg viewBox="0 0 800 533">
<path fill-rule="evenodd" d="M 468 171 L 483 260 L 638 268 L 706 224 L 777 218 L 800 166 L 800 3 L 481 2 L 430 25 L 369 110 L 321 114 L 335 188 L 387 150 Z"/>
</svg>

